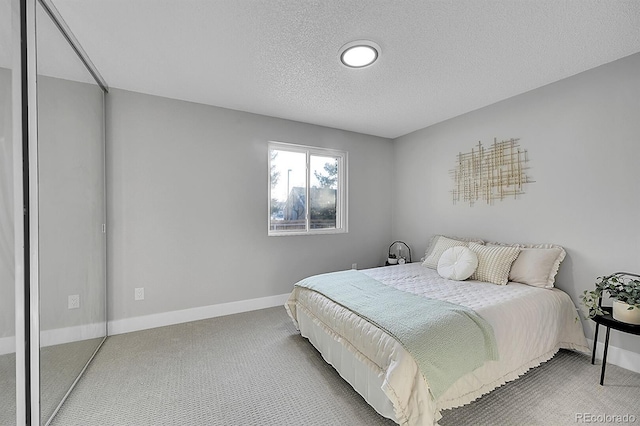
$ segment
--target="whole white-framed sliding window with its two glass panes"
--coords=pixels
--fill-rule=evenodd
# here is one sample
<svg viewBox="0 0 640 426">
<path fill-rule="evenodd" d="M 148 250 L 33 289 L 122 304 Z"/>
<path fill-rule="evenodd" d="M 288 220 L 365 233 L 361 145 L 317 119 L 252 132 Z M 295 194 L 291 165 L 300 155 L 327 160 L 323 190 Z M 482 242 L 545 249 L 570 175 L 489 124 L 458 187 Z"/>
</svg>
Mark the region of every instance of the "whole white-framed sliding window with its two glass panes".
<svg viewBox="0 0 640 426">
<path fill-rule="evenodd" d="M 346 152 L 269 142 L 269 235 L 347 232 L 346 180 Z"/>
</svg>

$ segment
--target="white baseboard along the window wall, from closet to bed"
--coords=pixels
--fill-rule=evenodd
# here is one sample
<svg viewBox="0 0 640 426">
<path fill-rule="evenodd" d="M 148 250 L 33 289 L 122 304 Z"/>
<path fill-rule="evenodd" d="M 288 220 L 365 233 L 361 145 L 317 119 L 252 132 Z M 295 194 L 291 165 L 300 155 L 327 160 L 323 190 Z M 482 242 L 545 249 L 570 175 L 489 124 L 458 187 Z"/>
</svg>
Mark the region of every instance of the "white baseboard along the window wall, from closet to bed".
<svg viewBox="0 0 640 426">
<path fill-rule="evenodd" d="M 181 324 L 207 318 L 255 311 L 258 309 L 284 306 L 289 293 L 276 296 L 260 297 L 257 299 L 240 300 L 237 302 L 220 303 L 217 305 L 201 306 L 198 308 L 182 309 L 179 311 L 163 312 L 160 314 L 141 317 L 125 318 L 109 321 L 109 335 L 130 333 L 132 331 L 147 330 L 149 328 L 164 327 L 166 325 Z"/>
</svg>

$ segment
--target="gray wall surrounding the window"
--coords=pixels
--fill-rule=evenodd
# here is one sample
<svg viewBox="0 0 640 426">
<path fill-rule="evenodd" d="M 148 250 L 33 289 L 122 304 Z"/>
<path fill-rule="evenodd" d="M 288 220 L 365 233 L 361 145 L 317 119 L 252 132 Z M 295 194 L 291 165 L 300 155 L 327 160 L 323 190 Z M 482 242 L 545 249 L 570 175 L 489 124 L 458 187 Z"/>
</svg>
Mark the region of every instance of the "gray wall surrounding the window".
<svg viewBox="0 0 640 426">
<path fill-rule="evenodd" d="M 110 321 L 285 294 L 311 274 L 384 262 L 390 140 L 115 89 L 107 122 Z M 347 234 L 267 236 L 269 140 L 349 152 Z"/>
</svg>

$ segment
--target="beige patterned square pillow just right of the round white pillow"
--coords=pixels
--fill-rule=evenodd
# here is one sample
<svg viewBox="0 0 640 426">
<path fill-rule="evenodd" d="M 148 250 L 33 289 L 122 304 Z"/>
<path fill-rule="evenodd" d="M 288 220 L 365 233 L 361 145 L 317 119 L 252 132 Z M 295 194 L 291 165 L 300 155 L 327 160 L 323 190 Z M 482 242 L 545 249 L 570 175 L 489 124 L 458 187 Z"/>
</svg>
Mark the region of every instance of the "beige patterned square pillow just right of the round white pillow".
<svg viewBox="0 0 640 426">
<path fill-rule="evenodd" d="M 478 267 L 472 280 L 505 285 L 509 282 L 511 264 L 518 257 L 520 247 L 483 246 L 469 243 L 469 248 L 478 256 Z"/>
</svg>

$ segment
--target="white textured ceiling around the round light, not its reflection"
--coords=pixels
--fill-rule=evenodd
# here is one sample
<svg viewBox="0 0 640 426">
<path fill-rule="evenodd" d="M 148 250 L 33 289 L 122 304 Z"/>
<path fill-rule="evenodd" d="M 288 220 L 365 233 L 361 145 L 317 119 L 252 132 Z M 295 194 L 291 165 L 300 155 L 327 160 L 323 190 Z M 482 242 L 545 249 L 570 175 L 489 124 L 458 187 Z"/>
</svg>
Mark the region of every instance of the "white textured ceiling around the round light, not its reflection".
<svg viewBox="0 0 640 426">
<path fill-rule="evenodd" d="M 389 138 L 640 52 L 636 0 L 54 3 L 112 87 Z"/>
</svg>

